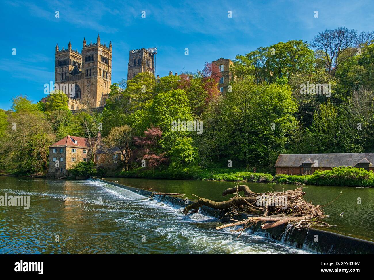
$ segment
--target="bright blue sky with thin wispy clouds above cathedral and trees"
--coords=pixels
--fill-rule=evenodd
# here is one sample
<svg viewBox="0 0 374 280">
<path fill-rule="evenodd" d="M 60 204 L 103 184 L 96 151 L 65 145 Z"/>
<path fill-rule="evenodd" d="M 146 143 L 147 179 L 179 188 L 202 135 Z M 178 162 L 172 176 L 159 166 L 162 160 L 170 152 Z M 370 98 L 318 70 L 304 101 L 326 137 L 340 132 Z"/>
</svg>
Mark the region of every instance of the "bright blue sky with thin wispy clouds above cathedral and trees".
<svg viewBox="0 0 374 280">
<path fill-rule="evenodd" d="M 59 18 L 55 18 L 59 11 Z M 141 18 L 145 11 L 145 18 Z M 232 18 L 227 17 L 232 11 Z M 318 18 L 314 18 L 318 11 Z M 112 83 L 127 76 L 129 50 L 157 47 L 156 75 L 196 72 L 205 61 L 234 59 L 280 41 L 310 42 L 324 29 L 374 29 L 368 1 L 2 1 L 0 108 L 12 97 L 34 102 L 54 81 L 54 54 L 87 43 L 113 44 Z M 16 55 L 12 49 L 16 48 Z M 184 49 L 189 55 L 184 55 Z"/>
</svg>

